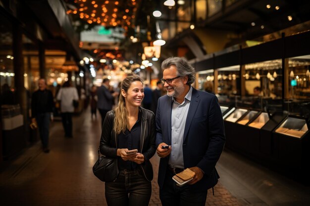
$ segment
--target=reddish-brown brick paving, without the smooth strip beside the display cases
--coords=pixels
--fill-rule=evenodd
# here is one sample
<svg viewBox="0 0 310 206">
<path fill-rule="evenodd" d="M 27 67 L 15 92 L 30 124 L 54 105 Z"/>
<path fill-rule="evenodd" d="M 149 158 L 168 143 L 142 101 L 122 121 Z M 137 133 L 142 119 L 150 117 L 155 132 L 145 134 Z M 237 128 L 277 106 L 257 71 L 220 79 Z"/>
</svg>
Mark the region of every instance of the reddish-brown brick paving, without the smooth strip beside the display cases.
<svg viewBox="0 0 310 206">
<path fill-rule="evenodd" d="M 106 206 L 104 183 L 92 173 L 100 139 L 100 119 L 90 112 L 74 117 L 74 137 L 64 138 L 60 121 L 52 123 L 49 154 L 38 142 L 14 161 L 0 167 L 1 206 Z M 161 206 L 158 197 L 159 158 L 152 158 L 153 193 L 150 206 Z M 219 182 L 209 191 L 206 206 L 241 206 Z"/>
</svg>

